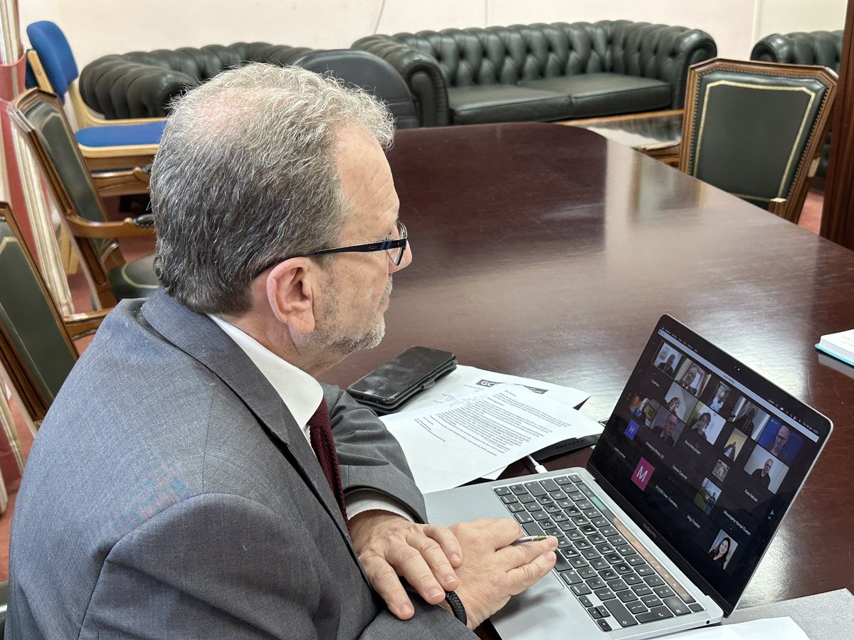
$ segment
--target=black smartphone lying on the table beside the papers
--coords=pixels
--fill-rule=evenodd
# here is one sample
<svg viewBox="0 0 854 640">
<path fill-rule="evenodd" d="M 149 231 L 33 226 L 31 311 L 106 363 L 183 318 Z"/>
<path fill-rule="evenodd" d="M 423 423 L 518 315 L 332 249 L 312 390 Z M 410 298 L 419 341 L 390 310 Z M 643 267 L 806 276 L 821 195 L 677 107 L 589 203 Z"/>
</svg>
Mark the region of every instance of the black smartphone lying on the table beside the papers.
<svg viewBox="0 0 854 640">
<path fill-rule="evenodd" d="M 416 393 L 432 387 L 442 375 L 456 368 L 457 358 L 451 352 L 411 346 L 362 376 L 347 390 L 360 404 L 383 416 L 398 410 Z"/>
</svg>

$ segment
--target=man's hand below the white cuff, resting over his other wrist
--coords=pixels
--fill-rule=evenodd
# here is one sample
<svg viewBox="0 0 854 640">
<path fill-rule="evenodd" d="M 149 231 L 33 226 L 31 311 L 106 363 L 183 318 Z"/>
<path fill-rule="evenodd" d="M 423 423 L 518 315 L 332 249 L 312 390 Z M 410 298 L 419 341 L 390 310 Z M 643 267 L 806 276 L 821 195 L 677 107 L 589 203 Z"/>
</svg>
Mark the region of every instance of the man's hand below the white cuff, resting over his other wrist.
<svg viewBox="0 0 854 640">
<path fill-rule="evenodd" d="M 401 620 L 415 613 L 401 577 L 430 604 L 442 602 L 445 591 L 459 585 L 454 567 L 463 561 L 463 550 L 443 525 L 419 525 L 369 510 L 350 519 L 350 537 L 374 591 Z"/>
</svg>

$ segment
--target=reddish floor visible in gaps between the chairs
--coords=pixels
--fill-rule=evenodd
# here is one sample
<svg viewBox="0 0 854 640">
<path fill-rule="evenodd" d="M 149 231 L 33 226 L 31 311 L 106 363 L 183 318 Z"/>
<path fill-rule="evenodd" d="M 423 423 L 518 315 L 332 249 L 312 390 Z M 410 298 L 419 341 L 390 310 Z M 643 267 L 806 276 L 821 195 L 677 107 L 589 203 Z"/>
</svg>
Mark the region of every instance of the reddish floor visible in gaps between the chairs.
<svg viewBox="0 0 854 640">
<path fill-rule="evenodd" d="M 804 202 L 804 209 L 801 212 L 798 226 L 817 234 L 822 220 L 823 201 L 824 197 L 821 190 L 811 190 Z M 132 259 L 153 251 L 154 241 L 149 239 L 122 241 L 121 247 L 126 259 Z M 86 286 L 84 277 L 81 274 L 77 274 L 76 276 L 72 276 L 69 282 L 72 287 L 75 308 L 87 308 L 89 304 L 89 289 Z M 78 348 L 81 352 L 89 344 L 90 340 L 89 338 L 78 340 Z M 20 418 L 20 414 L 18 424 L 20 425 L 18 432 L 20 433 L 21 445 L 26 454 L 30 450 L 30 445 L 32 445 L 32 435 L 29 433 L 29 429 L 23 426 L 23 419 Z M 7 579 L 9 575 L 9 527 L 11 526 L 14 506 L 15 495 L 11 495 L 9 496 L 9 508 L 0 516 L 0 580 Z"/>
</svg>

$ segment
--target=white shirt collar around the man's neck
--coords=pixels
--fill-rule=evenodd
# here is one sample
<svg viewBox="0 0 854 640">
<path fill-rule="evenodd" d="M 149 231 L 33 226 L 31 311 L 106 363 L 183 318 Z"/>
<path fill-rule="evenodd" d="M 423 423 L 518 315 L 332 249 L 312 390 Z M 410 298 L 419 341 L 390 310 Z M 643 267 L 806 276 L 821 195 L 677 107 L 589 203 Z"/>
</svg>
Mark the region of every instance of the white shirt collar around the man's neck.
<svg viewBox="0 0 854 640">
<path fill-rule="evenodd" d="M 221 317 L 210 314 L 208 317 L 249 356 L 288 407 L 296 424 L 305 431 L 309 418 L 323 399 L 320 383 L 302 369 L 279 358 L 242 329 L 237 329 Z"/>
</svg>

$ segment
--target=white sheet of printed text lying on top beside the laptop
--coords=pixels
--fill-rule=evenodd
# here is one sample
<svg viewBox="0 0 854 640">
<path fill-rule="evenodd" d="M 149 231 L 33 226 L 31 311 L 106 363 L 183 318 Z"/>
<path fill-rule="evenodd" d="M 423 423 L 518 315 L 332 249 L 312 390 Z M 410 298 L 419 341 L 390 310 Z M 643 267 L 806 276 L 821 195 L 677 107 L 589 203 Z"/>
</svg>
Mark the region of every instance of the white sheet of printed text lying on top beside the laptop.
<svg viewBox="0 0 854 640">
<path fill-rule="evenodd" d="M 462 485 L 545 446 L 601 431 L 597 422 L 547 394 L 504 384 L 465 402 L 431 403 L 382 420 L 400 441 L 424 493 Z"/>
</svg>

